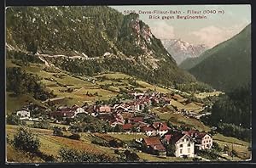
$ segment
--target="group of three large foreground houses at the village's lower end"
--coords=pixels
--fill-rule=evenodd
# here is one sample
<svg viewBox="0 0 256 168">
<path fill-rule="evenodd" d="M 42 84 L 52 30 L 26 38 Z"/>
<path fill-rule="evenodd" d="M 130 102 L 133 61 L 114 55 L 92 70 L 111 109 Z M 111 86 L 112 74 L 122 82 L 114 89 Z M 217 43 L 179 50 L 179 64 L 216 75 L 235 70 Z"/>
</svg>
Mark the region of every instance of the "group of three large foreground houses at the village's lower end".
<svg viewBox="0 0 256 168">
<path fill-rule="evenodd" d="M 174 146 L 176 157 L 195 157 L 198 150 L 212 148 L 212 137 L 206 132 L 191 130 L 189 132 L 167 132 L 164 136 L 145 137 L 142 140 L 146 152 L 166 156 L 167 145 Z"/>
</svg>

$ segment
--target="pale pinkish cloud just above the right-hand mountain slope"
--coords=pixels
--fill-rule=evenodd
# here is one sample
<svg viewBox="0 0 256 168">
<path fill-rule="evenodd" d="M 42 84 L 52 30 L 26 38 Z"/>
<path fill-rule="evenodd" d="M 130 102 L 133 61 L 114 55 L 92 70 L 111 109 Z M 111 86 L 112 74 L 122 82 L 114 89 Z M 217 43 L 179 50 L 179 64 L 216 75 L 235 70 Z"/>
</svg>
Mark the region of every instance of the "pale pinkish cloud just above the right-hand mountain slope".
<svg viewBox="0 0 256 168">
<path fill-rule="evenodd" d="M 229 28 L 221 28 L 215 25 L 203 27 L 198 31 L 192 31 L 190 35 L 198 38 L 199 43 L 212 48 L 220 42 L 224 42 L 239 33 L 246 25 L 234 25 Z"/>
</svg>

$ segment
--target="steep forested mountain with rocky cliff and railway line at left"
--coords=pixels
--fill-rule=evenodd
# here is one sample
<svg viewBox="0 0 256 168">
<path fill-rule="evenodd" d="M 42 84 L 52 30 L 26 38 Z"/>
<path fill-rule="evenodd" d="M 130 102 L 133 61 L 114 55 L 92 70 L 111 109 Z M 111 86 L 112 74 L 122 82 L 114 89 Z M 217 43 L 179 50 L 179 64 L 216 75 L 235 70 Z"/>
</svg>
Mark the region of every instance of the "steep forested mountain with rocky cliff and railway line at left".
<svg viewBox="0 0 256 168">
<path fill-rule="evenodd" d="M 172 86 L 195 81 L 138 14 L 106 6 L 7 9 L 7 46 L 77 74 L 119 71 Z"/>
</svg>

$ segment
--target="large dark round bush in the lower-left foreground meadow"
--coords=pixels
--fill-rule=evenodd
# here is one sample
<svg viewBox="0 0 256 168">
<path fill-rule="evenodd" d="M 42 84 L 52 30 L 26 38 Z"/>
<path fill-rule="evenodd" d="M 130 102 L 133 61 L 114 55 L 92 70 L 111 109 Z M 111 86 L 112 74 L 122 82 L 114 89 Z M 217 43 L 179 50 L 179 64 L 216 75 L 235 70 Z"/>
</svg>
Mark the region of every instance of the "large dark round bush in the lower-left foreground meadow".
<svg viewBox="0 0 256 168">
<path fill-rule="evenodd" d="M 40 147 L 38 137 L 24 127 L 18 129 L 18 132 L 14 136 L 13 144 L 15 148 L 31 153 L 37 153 Z"/>
</svg>

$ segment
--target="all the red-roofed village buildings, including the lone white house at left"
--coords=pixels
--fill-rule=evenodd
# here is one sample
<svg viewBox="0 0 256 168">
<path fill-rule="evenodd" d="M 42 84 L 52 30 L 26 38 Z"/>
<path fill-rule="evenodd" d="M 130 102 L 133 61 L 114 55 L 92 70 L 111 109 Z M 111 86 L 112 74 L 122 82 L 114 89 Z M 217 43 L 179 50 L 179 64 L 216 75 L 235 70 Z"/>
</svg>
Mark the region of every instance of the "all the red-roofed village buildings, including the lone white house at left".
<svg viewBox="0 0 256 168">
<path fill-rule="evenodd" d="M 212 137 L 206 132 L 189 131 L 178 132 L 167 126 L 166 122 L 154 121 L 156 116 L 146 113 L 144 109 L 154 104 L 171 104 L 171 100 L 159 92 L 131 93 L 131 100 L 120 104 L 111 105 L 84 105 L 79 107 L 61 106 L 49 112 L 49 118 L 65 120 L 74 118 L 79 114 L 91 115 L 100 120 L 105 120 L 110 126 L 122 126 L 123 132 L 143 132 L 147 137 L 140 140 L 149 154 L 166 155 L 168 144 L 175 146 L 176 157 L 195 157 L 195 150 L 212 148 Z M 184 114 L 187 111 L 182 111 Z M 16 112 L 20 120 L 30 120 L 31 111 L 20 109 Z M 147 120 L 153 121 L 148 124 Z"/>
</svg>

